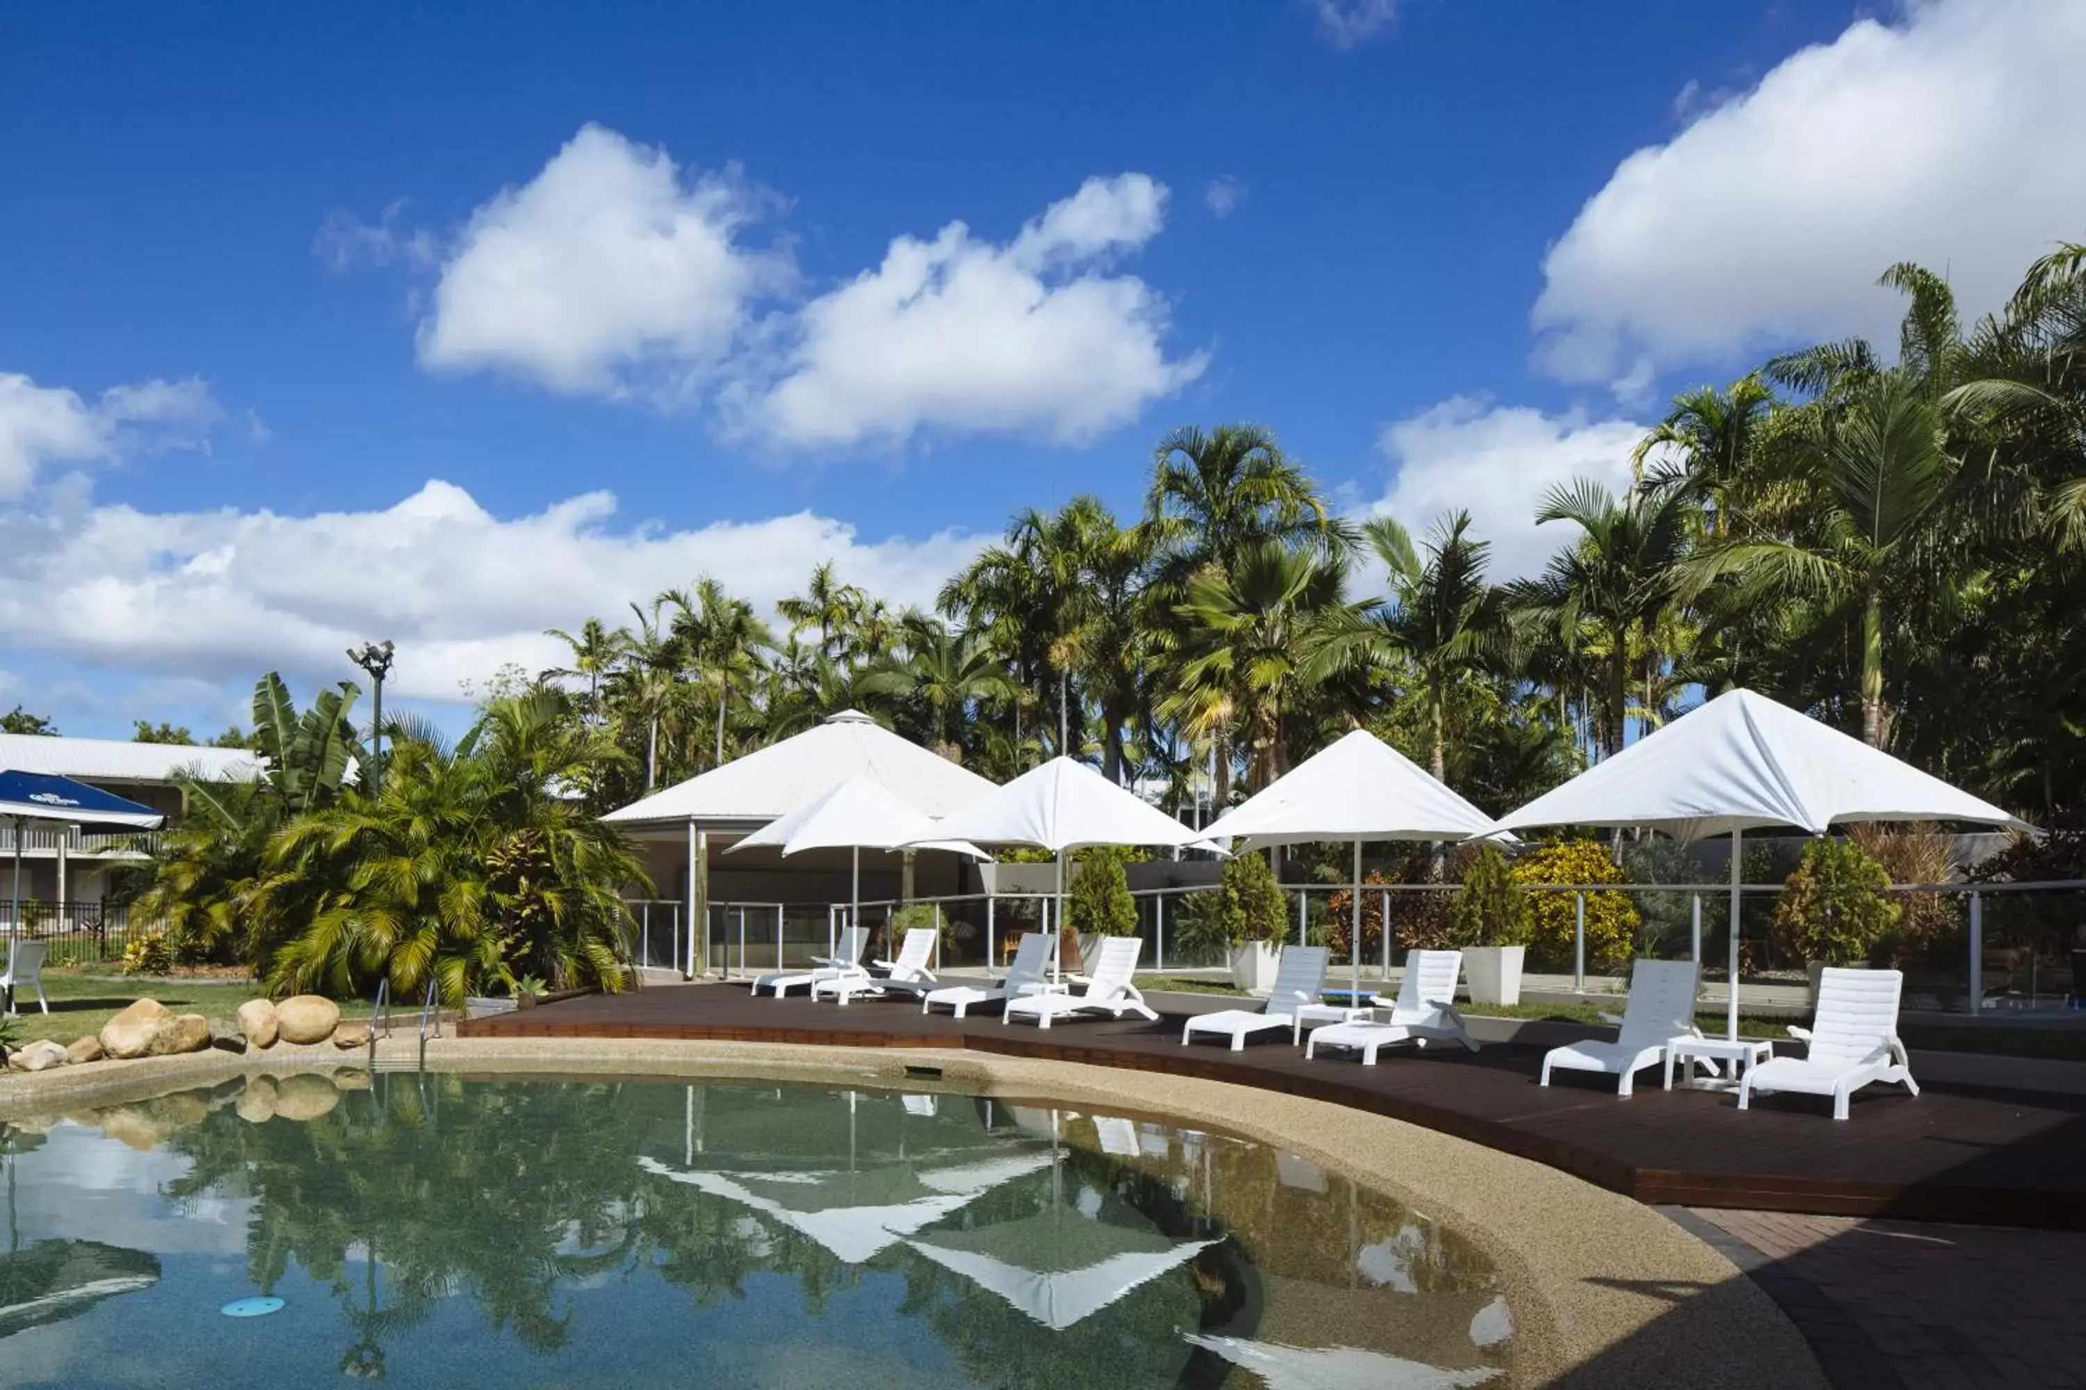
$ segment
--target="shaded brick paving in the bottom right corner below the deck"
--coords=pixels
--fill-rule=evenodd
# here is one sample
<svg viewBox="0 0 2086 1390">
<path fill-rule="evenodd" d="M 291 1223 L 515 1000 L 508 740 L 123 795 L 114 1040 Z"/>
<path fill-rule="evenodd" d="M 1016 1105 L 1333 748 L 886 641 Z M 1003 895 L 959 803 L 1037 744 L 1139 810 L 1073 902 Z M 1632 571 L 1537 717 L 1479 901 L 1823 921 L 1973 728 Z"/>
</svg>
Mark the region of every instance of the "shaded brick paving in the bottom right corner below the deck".
<svg viewBox="0 0 2086 1390">
<path fill-rule="evenodd" d="M 1836 1390 L 2086 1390 L 2082 1232 L 1683 1215 L 1781 1305 Z"/>
</svg>

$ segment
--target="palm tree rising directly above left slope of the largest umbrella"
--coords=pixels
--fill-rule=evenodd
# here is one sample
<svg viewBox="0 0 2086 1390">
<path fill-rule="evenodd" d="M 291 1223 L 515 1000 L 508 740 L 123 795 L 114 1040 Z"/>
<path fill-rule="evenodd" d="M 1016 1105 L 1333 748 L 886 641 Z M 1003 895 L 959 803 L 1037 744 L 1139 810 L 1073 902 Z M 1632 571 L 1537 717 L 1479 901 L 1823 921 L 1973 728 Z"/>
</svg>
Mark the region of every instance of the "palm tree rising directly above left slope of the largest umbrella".
<svg viewBox="0 0 2086 1390">
<path fill-rule="evenodd" d="M 1640 488 L 1621 502 L 1596 481 L 1550 490 L 1537 523 L 1571 521 L 1579 540 L 1550 556 L 1542 577 L 1514 588 L 1519 621 L 1562 646 L 1598 646 L 1600 746 L 1621 752 L 1629 721 L 1629 669 L 1650 673 L 1658 625 L 1679 596 L 1690 504 L 1677 483 Z"/>
</svg>

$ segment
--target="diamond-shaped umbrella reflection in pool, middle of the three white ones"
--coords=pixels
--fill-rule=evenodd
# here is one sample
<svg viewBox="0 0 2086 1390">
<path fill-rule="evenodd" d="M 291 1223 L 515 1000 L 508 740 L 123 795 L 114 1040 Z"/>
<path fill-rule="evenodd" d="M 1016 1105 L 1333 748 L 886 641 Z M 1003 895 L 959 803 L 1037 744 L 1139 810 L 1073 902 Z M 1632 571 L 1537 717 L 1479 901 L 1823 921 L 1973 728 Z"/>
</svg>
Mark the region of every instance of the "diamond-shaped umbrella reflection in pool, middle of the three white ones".
<svg viewBox="0 0 2086 1390">
<path fill-rule="evenodd" d="M 905 1244 L 1051 1332 L 1064 1332 L 1216 1242 L 1172 1240 L 1160 1232 L 1101 1225 L 1081 1213 L 1045 1211 L 968 1232 L 932 1232 Z"/>
</svg>

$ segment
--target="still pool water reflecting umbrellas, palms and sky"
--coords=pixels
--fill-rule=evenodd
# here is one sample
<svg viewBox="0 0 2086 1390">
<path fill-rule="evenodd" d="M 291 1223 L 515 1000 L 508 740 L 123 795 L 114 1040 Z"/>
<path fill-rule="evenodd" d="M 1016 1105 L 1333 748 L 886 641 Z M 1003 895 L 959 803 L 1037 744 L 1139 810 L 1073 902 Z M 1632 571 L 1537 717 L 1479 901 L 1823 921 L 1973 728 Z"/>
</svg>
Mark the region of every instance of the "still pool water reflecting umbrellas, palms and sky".
<svg viewBox="0 0 2086 1390">
<path fill-rule="evenodd" d="M 340 1073 L 0 1123 L 0 1152 L 10 1390 L 1510 1384 L 1456 1232 L 1089 1107 Z"/>
</svg>

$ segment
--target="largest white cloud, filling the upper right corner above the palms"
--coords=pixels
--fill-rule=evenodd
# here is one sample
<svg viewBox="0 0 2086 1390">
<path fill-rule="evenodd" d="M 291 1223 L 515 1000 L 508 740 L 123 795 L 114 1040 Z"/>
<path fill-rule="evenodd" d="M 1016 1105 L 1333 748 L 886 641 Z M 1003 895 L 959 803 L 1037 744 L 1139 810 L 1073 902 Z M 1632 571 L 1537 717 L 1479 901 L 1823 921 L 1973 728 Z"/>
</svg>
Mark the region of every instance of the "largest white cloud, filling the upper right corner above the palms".
<svg viewBox="0 0 2086 1390">
<path fill-rule="evenodd" d="M 1890 340 L 1896 260 L 1994 308 L 2086 231 L 2086 4 L 1917 0 L 1806 48 L 1625 158 L 1544 260 L 1537 363 L 1569 381 Z"/>
</svg>

